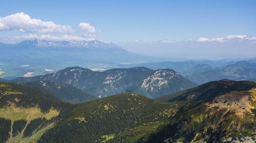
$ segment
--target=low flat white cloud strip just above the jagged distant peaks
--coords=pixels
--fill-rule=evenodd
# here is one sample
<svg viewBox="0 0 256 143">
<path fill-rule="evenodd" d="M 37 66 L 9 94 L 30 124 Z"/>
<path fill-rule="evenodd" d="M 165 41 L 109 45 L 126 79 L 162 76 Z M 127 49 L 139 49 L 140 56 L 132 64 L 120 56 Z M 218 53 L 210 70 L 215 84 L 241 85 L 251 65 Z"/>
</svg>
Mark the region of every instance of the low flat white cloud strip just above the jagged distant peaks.
<svg viewBox="0 0 256 143">
<path fill-rule="evenodd" d="M 82 37 L 78 37 L 78 36 L 71 36 L 71 35 L 62 35 L 60 37 L 58 36 L 51 36 L 49 34 L 42 34 L 40 36 L 37 36 L 36 34 L 29 34 L 29 35 L 23 35 L 23 36 L 15 36 L 16 39 L 26 39 L 26 40 L 31 40 L 31 39 L 40 39 L 40 40 L 57 40 L 57 41 L 84 41 L 84 40 L 94 40 L 91 38 L 82 38 Z"/>
</svg>

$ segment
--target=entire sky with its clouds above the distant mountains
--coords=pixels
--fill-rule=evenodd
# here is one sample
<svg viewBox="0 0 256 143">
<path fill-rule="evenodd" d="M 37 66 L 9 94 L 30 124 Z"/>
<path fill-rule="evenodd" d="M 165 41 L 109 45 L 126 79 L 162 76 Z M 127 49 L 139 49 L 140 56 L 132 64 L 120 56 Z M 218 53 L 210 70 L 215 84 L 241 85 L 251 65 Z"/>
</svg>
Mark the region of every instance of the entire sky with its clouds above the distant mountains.
<svg viewBox="0 0 256 143">
<path fill-rule="evenodd" d="M 0 42 L 102 40 L 136 53 L 256 57 L 256 1 L 1 1 Z"/>
</svg>

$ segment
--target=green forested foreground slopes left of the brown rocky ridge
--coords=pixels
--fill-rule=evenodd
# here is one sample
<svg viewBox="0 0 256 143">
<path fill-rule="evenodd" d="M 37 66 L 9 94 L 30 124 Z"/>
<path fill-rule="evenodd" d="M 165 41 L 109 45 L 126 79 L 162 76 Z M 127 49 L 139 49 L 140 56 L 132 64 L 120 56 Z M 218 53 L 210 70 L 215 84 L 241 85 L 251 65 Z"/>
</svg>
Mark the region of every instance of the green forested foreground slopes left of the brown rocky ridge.
<svg viewBox="0 0 256 143">
<path fill-rule="evenodd" d="M 0 85 L 1 142 L 134 142 L 195 104 L 125 93 L 74 106 L 37 88 Z"/>
</svg>

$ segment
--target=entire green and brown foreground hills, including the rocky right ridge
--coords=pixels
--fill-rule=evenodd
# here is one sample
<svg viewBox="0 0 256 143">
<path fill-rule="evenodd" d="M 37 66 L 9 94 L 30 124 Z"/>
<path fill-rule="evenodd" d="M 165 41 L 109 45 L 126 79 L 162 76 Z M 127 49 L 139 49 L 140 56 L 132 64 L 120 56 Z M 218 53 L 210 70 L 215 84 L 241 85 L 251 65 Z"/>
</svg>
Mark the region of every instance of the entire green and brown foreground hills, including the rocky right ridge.
<svg viewBox="0 0 256 143">
<path fill-rule="evenodd" d="M 158 98 L 81 104 L 0 82 L 0 142 L 254 142 L 256 82 L 219 80 Z"/>
</svg>

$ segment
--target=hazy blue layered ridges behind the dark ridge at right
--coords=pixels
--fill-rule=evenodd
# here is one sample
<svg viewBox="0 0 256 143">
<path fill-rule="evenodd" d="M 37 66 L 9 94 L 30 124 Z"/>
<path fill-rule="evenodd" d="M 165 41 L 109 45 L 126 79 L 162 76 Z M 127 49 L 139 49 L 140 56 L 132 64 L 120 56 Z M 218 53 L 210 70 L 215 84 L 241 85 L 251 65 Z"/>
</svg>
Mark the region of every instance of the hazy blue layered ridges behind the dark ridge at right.
<svg viewBox="0 0 256 143">
<path fill-rule="evenodd" d="M 203 84 L 209 81 L 253 80 L 256 78 L 256 60 L 247 61 L 182 61 L 182 62 L 156 62 L 120 65 L 129 68 L 144 66 L 151 69 L 169 68 L 179 72 L 182 76 L 197 83 Z"/>
</svg>

